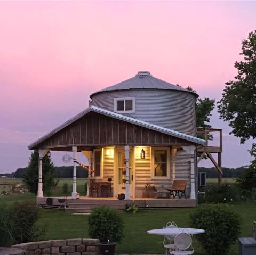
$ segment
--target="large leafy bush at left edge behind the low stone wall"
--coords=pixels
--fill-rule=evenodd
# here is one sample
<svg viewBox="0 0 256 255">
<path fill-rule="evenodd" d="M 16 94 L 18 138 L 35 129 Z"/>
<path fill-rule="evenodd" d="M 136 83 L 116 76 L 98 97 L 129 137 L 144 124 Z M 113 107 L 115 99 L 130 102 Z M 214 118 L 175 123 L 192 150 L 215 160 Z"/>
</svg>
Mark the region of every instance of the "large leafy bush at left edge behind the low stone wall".
<svg viewBox="0 0 256 255">
<path fill-rule="evenodd" d="M 45 232 L 38 219 L 38 208 L 31 202 L 0 204 L 0 246 L 37 240 Z"/>
</svg>

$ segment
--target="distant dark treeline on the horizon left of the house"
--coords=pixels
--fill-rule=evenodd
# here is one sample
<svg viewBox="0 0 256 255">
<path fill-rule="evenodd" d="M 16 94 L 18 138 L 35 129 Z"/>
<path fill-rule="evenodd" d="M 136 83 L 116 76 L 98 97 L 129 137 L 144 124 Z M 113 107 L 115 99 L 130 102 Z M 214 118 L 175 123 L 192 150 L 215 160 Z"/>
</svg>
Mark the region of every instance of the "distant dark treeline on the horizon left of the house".
<svg viewBox="0 0 256 255">
<path fill-rule="evenodd" d="M 23 174 L 26 171 L 26 167 L 18 168 L 11 174 L 0 174 L 0 176 L 8 176 L 10 178 L 23 178 Z M 87 178 L 88 172 L 82 167 L 76 167 L 77 178 Z M 73 166 L 69 167 L 55 167 L 55 178 L 73 178 Z"/>
</svg>

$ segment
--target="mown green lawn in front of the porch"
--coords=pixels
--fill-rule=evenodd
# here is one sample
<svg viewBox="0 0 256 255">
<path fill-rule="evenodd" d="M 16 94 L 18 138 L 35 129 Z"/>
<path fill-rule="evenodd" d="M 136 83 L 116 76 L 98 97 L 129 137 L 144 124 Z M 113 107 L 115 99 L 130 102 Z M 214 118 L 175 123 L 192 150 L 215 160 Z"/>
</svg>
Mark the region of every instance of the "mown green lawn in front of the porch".
<svg viewBox="0 0 256 255">
<path fill-rule="evenodd" d="M 35 202 L 32 194 L 2 196 L 0 200 L 12 203 L 20 200 Z M 256 204 L 231 204 L 242 217 L 242 233 L 240 236 L 252 236 L 252 224 L 256 217 Z M 136 214 L 122 212 L 125 223 L 125 238 L 117 246 L 117 253 L 155 253 L 164 254 L 163 237 L 147 234 L 147 230 L 162 228 L 168 221 L 175 221 L 180 227 L 189 226 L 189 213 L 195 208 L 140 210 Z M 87 215 L 73 215 L 70 212 L 41 209 L 40 224 L 47 224 L 46 235 L 42 240 L 59 238 L 86 238 L 88 235 Z M 195 254 L 206 255 L 201 245 L 193 237 Z M 238 243 L 232 246 L 228 255 L 238 254 Z"/>
</svg>

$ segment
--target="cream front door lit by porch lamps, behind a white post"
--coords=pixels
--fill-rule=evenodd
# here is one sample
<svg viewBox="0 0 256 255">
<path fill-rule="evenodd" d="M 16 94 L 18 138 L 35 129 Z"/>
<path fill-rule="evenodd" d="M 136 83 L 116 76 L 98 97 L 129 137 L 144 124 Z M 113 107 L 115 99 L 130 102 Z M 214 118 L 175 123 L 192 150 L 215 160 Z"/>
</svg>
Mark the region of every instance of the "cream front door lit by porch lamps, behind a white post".
<svg viewBox="0 0 256 255">
<path fill-rule="evenodd" d="M 116 149 L 115 152 L 115 184 L 116 194 L 125 194 L 125 176 L 126 176 L 126 164 L 125 164 L 125 151 Z M 133 196 L 133 150 L 129 152 L 129 180 L 130 180 L 130 195 Z"/>
</svg>

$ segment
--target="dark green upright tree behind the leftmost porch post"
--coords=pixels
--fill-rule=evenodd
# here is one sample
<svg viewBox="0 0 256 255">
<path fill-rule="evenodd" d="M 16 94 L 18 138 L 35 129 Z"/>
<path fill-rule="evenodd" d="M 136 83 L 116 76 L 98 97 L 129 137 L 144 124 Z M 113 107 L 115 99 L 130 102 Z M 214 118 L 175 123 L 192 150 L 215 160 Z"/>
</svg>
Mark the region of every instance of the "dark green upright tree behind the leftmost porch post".
<svg viewBox="0 0 256 255">
<path fill-rule="evenodd" d="M 23 175 L 23 182 L 31 193 L 37 194 L 39 153 L 37 151 L 32 152 L 29 160 L 28 167 Z M 43 192 L 46 195 L 50 195 L 52 188 L 57 185 L 57 181 L 55 181 L 54 178 L 54 164 L 51 162 L 51 158 L 49 158 L 48 155 L 45 155 L 45 157 L 43 157 L 42 181 Z"/>
</svg>

